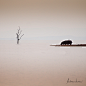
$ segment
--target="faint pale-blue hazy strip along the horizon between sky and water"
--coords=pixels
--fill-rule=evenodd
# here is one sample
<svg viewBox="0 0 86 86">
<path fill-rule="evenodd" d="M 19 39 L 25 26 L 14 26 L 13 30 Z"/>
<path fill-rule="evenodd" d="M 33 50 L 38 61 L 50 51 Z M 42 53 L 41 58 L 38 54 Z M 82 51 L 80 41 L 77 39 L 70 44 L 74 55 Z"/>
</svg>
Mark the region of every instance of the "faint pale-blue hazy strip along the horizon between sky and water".
<svg viewBox="0 0 86 86">
<path fill-rule="evenodd" d="M 26 34 L 24 34 L 25 36 Z M 86 36 L 38 36 L 38 37 L 22 37 L 21 40 L 66 40 L 66 39 L 70 39 L 70 40 L 86 40 Z M 14 38 L 12 37 L 5 37 L 5 38 L 0 38 L 0 40 L 16 40 L 16 35 Z"/>
</svg>

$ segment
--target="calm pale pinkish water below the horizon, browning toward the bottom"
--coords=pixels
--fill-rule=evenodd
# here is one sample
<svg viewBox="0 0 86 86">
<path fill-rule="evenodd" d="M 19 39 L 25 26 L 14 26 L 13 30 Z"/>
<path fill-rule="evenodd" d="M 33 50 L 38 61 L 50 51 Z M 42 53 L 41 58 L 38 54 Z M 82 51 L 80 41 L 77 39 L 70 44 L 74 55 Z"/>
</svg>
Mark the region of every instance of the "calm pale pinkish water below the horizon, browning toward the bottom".
<svg viewBox="0 0 86 86">
<path fill-rule="evenodd" d="M 59 43 L 0 40 L 0 86 L 86 86 L 86 48 L 50 46 Z"/>
</svg>

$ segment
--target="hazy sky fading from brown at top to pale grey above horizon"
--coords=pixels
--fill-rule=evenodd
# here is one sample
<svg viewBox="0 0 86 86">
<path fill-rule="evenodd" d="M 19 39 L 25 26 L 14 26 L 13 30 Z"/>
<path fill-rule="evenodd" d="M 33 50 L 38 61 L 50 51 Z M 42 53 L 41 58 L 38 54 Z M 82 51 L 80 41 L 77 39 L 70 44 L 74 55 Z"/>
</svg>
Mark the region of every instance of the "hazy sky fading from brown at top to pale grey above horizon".
<svg viewBox="0 0 86 86">
<path fill-rule="evenodd" d="M 0 38 L 86 37 L 86 0 L 0 0 Z"/>
</svg>

